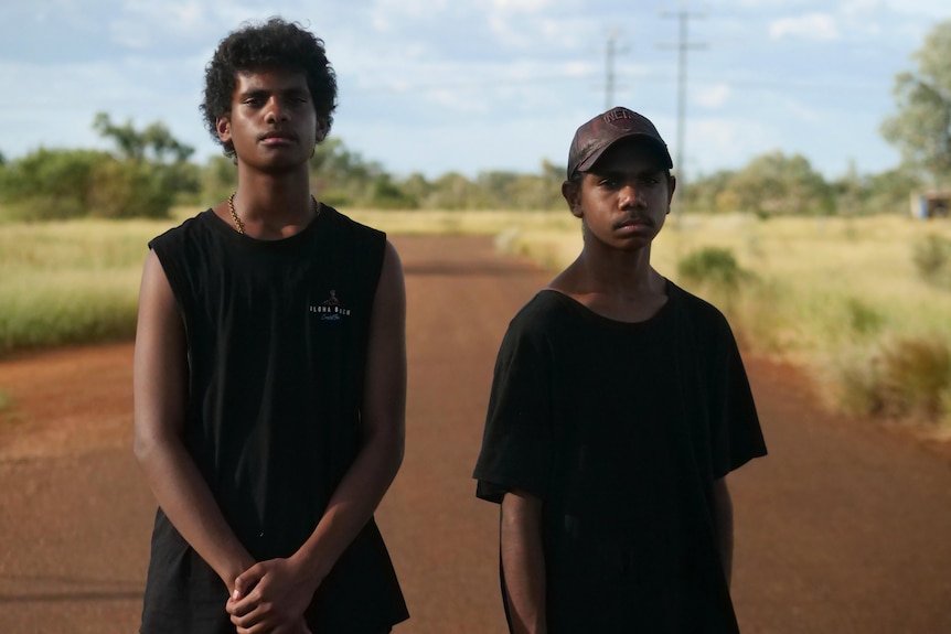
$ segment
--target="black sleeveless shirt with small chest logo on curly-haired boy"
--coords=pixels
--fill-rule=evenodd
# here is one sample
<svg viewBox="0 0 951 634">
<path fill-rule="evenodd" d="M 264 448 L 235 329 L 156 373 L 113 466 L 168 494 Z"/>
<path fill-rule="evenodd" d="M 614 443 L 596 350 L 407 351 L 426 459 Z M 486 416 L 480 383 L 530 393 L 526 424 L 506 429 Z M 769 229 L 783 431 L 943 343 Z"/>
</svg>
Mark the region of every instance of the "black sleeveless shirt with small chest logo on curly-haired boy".
<svg viewBox="0 0 951 634">
<path fill-rule="evenodd" d="M 258 240 L 211 209 L 153 239 L 185 326 L 184 443 L 258 561 L 313 533 L 360 449 L 367 331 L 386 237 L 323 205 L 300 233 Z M 142 632 L 234 632 L 227 589 L 158 511 Z M 314 632 L 408 616 L 371 519 L 308 611 Z"/>
</svg>

